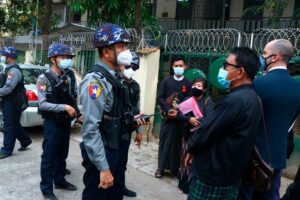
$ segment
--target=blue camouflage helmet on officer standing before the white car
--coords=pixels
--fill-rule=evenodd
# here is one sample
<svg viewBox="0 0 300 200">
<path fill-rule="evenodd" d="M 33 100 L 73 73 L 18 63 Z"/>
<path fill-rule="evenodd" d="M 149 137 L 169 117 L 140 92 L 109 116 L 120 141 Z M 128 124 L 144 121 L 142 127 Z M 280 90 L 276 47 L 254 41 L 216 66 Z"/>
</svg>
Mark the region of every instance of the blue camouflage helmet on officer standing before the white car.
<svg viewBox="0 0 300 200">
<path fill-rule="evenodd" d="M 63 43 L 54 43 L 48 48 L 48 58 L 55 56 L 75 56 L 75 51 L 72 47 Z"/>
</svg>

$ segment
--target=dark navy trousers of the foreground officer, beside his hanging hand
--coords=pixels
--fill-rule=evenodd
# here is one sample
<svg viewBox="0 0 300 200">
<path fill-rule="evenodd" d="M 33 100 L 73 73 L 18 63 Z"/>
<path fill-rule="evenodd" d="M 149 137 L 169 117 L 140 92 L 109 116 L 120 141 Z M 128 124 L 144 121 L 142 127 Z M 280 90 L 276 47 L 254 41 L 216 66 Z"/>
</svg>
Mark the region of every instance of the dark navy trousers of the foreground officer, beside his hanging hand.
<svg viewBox="0 0 300 200">
<path fill-rule="evenodd" d="M 116 176 L 119 165 L 119 149 L 111 149 L 105 147 L 105 155 L 109 165 L 109 169 L 114 177 L 114 185 L 108 189 L 98 188 L 100 184 L 100 171 L 89 159 L 84 147 L 84 143 L 80 143 L 81 155 L 83 158 L 82 166 L 85 168 L 83 175 L 84 190 L 82 192 L 83 200 L 122 200 L 123 193 L 120 188 L 118 177 Z"/>
</svg>

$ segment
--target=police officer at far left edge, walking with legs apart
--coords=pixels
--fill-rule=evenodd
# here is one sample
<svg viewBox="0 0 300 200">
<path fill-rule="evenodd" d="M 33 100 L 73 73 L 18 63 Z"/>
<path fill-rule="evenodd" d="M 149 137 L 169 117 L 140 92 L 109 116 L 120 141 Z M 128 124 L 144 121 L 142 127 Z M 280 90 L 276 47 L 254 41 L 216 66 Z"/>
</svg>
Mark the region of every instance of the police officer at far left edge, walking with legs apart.
<svg viewBox="0 0 300 200">
<path fill-rule="evenodd" d="M 18 151 L 24 151 L 32 143 L 20 124 L 21 113 L 25 109 L 20 108 L 20 103 L 26 103 L 24 78 L 22 70 L 16 64 L 17 50 L 14 47 L 4 47 L 0 51 L 1 62 L 6 63 L 3 83 L 0 88 L 1 106 L 4 120 L 4 140 L 0 150 L 0 159 L 10 156 L 14 150 L 16 139 L 21 147 Z M 20 96 L 26 102 L 20 102 Z"/>
</svg>

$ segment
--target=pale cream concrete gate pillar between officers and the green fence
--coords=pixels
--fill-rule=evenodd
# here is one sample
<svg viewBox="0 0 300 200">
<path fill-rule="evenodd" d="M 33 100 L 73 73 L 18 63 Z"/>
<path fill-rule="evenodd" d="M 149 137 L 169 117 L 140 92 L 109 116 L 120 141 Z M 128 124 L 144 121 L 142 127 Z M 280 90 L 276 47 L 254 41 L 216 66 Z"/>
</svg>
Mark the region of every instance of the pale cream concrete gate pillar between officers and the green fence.
<svg viewBox="0 0 300 200">
<path fill-rule="evenodd" d="M 141 87 L 141 111 L 153 114 L 156 103 L 160 50 L 140 57 L 140 69 L 134 79 Z"/>
</svg>

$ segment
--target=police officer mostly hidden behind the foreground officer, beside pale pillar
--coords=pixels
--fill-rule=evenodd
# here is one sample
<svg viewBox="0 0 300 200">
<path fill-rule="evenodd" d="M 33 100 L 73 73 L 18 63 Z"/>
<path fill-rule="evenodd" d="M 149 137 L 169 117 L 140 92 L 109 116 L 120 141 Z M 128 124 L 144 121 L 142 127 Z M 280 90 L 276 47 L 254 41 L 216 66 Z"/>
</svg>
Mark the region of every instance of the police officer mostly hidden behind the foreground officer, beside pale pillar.
<svg viewBox="0 0 300 200">
<path fill-rule="evenodd" d="M 140 114 L 140 85 L 132 79 L 135 71 L 139 69 L 139 57 L 133 51 L 131 65 L 120 66 L 121 76 L 123 77 L 124 86 L 124 102 L 125 105 L 123 110 L 128 113 L 128 118 L 125 119 L 127 123 L 123 126 L 122 139 L 120 143 L 120 165 L 118 168 L 118 177 L 120 179 L 120 185 L 124 196 L 136 197 L 136 192 L 129 190 L 125 185 L 125 171 L 128 162 L 128 150 L 131 141 L 132 132 L 136 131 L 135 141 L 138 147 L 140 147 L 142 142 L 142 127 L 136 127 L 132 123 L 132 116 Z"/>
</svg>

